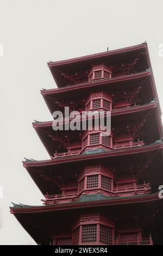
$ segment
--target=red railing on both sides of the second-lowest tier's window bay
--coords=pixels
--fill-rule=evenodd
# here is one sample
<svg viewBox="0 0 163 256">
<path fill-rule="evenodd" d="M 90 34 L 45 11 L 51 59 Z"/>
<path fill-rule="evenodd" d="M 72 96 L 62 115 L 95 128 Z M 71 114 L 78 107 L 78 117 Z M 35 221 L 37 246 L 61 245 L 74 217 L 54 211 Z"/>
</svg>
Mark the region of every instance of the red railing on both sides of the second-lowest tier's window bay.
<svg viewBox="0 0 163 256">
<path fill-rule="evenodd" d="M 99 188 L 99 191 L 101 191 L 100 188 Z M 80 193 L 74 192 L 71 194 L 51 194 L 51 195 L 46 194 L 45 199 L 41 199 L 41 201 L 44 202 L 44 204 L 54 204 L 54 203 L 63 203 L 63 202 L 68 203 L 68 202 L 77 200 L 83 192 L 84 191 Z M 87 194 L 92 193 L 92 191 L 90 192 L 89 190 L 85 190 L 85 192 L 87 192 Z M 151 192 L 151 187 L 149 186 L 149 184 L 143 184 L 143 185 L 137 185 L 137 186 L 116 187 L 112 191 L 108 191 L 108 195 L 112 197 L 116 197 L 116 196 L 121 197 L 124 195 L 131 196 L 135 194 L 146 194 L 150 192 Z M 107 192 L 105 191 L 105 194 L 106 193 Z"/>
</svg>

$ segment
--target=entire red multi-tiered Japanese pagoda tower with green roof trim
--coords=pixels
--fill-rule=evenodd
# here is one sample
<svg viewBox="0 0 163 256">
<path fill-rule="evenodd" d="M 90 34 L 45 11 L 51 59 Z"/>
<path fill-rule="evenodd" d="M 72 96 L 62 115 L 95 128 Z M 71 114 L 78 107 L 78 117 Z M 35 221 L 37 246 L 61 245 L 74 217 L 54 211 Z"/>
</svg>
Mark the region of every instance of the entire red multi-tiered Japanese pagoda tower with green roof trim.
<svg viewBox="0 0 163 256">
<path fill-rule="evenodd" d="M 48 67 L 58 87 L 41 90 L 49 111 L 111 111 L 111 133 L 35 121 L 50 157 L 23 166 L 43 204 L 14 203 L 11 214 L 39 245 L 163 244 L 161 109 L 147 44 Z"/>
</svg>

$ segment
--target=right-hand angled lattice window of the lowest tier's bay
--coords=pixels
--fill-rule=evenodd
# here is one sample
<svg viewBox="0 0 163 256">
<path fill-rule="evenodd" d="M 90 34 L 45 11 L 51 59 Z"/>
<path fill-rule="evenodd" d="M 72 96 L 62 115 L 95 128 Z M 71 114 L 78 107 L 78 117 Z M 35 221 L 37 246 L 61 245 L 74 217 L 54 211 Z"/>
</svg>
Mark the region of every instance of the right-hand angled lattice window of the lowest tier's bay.
<svg viewBox="0 0 163 256">
<path fill-rule="evenodd" d="M 103 243 L 104 245 L 112 245 L 112 228 L 100 225 L 99 242 Z"/>
</svg>

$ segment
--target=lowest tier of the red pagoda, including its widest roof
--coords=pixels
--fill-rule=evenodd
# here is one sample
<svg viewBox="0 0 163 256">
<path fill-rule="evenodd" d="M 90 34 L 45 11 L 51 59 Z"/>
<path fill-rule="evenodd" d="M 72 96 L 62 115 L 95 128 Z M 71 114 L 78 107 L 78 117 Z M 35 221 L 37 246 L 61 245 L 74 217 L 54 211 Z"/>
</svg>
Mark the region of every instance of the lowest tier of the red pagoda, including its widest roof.
<svg viewBox="0 0 163 256">
<path fill-rule="evenodd" d="M 85 195 L 71 203 L 14 204 L 10 211 L 40 245 L 153 245 L 162 241 L 162 236 L 157 240 L 163 211 L 158 193 L 112 199 Z"/>
</svg>

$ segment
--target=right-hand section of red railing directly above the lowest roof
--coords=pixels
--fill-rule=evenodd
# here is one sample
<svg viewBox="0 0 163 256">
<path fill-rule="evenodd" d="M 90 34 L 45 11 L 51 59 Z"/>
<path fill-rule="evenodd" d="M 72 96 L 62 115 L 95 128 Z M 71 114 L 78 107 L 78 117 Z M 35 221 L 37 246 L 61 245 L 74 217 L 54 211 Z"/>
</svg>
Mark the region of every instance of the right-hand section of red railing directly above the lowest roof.
<svg viewBox="0 0 163 256">
<path fill-rule="evenodd" d="M 116 196 L 123 196 L 123 194 L 146 194 L 151 192 L 151 187 L 148 184 L 126 186 L 126 187 L 115 187 L 113 192 Z"/>
</svg>

